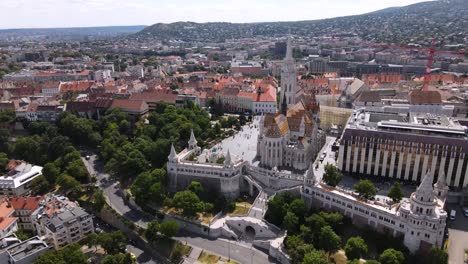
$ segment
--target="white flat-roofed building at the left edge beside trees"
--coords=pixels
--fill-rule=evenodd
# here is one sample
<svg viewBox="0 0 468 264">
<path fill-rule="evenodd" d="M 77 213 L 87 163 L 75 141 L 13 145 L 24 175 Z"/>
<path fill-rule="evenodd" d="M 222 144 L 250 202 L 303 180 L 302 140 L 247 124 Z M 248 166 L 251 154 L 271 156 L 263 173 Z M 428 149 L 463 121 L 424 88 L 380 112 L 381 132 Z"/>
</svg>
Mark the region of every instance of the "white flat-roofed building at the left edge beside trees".
<svg viewBox="0 0 468 264">
<path fill-rule="evenodd" d="M 23 196 L 29 193 L 32 180 L 42 175 L 42 167 L 20 160 L 11 160 L 7 169 L 0 177 L 0 195 Z"/>
</svg>

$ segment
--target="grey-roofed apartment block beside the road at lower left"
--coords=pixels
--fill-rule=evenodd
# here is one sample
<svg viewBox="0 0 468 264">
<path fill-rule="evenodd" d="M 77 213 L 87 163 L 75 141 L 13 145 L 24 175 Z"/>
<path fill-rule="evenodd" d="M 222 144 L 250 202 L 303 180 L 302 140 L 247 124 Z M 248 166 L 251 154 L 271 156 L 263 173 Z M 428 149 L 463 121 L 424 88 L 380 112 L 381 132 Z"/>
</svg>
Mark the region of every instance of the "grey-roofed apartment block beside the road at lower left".
<svg viewBox="0 0 468 264">
<path fill-rule="evenodd" d="M 37 234 L 45 236 L 55 249 L 76 243 L 94 231 L 92 216 L 64 196 L 48 195 L 32 217 Z"/>
</svg>

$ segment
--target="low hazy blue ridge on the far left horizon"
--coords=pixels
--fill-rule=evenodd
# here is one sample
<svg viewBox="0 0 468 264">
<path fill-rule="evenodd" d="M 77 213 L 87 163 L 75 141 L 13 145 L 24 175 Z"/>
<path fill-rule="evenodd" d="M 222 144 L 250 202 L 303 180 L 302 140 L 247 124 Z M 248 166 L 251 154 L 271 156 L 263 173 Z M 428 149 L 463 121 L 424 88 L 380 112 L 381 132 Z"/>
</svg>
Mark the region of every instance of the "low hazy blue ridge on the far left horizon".
<svg viewBox="0 0 468 264">
<path fill-rule="evenodd" d="M 146 26 L 109 26 L 109 27 L 76 27 L 76 28 L 23 28 L 0 29 L 0 39 L 7 37 L 52 37 L 70 36 L 118 36 L 133 34 Z"/>
</svg>

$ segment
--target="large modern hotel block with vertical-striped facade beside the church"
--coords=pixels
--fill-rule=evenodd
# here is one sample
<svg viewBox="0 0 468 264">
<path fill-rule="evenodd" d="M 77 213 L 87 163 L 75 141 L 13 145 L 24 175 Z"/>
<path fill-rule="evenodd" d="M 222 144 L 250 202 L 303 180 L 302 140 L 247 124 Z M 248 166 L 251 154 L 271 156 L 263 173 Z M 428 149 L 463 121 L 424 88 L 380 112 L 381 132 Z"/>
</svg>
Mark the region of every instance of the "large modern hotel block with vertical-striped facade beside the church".
<svg viewBox="0 0 468 264">
<path fill-rule="evenodd" d="M 427 170 L 468 186 L 467 127 L 447 116 L 356 110 L 340 139 L 338 168 L 350 174 L 421 182 Z"/>
</svg>

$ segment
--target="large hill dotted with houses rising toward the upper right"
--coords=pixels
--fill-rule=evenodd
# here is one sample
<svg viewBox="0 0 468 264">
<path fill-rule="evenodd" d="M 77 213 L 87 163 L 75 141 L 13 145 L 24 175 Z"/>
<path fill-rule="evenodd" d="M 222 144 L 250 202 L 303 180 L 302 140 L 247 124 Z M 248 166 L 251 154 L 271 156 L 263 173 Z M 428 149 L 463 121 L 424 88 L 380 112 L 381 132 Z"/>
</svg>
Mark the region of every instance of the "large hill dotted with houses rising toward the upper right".
<svg viewBox="0 0 468 264">
<path fill-rule="evenodd" d="M 132 35 L 181 41 L 223 42 L 253 36 L 357 35 L 368 41 L 428 44 L 437 37 L 446 44 L 468 41 L 468 0 L 439 0 L 347 17 L 296 22 L 154 24 Z"/>
</svg>

